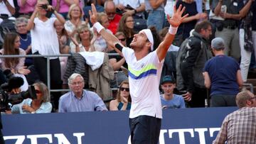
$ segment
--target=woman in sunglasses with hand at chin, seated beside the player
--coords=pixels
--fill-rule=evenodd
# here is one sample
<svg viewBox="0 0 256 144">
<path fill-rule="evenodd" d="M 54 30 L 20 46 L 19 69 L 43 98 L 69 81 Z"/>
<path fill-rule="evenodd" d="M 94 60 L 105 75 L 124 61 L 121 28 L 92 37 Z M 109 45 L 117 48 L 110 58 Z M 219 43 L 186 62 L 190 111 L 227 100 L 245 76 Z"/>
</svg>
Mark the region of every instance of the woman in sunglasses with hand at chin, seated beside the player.
<svg viewBox="0 0 256 144">
<path fill-rule="evenodd" d="M 124 80 L 117 92 L 117 98 L 110 101 L 110 111 L 125 111 L 131 109 L 131 96 L 129 94 L 129 82 Z"/>
</svg>

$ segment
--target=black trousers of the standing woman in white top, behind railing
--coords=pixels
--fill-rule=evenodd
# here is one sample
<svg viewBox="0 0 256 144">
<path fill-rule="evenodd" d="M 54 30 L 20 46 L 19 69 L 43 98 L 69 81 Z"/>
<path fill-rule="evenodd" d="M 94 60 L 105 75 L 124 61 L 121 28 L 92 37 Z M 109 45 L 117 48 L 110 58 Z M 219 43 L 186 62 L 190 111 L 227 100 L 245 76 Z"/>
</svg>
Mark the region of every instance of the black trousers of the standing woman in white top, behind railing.
<svg viewBox="0 0 256 144">
<path fill-rule="evenodd" d="M 36 72 L 40 80 L 47 85 L 47 59 L 45 57 L 35 57 L 33 59 Z M 60 75 L 60 60 L 58 58 L 50 60 L 50 89 L 61 89 L 62 80 Z M 53 93 L 55 109 L 58 109 L 60 92 Z"/>
</svg>

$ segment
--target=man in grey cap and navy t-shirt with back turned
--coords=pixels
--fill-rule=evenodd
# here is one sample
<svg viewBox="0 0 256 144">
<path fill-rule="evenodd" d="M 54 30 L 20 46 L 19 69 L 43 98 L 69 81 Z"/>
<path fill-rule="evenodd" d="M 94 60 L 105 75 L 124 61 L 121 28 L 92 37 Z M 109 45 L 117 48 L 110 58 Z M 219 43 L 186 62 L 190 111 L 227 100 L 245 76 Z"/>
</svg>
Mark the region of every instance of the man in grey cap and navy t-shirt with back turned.
<svg viewBox="0 0 256 144">
<path fill-rule="evenodd" d="M 210 106 L 236 106 L 235 96 L 242 86 L 238 62 L 224 55 L 223 38 L 214 38 L 211 48 L 215 57 L 206 62 L 203 70 L 206 88 L 210 89 Z"/>
</svg>

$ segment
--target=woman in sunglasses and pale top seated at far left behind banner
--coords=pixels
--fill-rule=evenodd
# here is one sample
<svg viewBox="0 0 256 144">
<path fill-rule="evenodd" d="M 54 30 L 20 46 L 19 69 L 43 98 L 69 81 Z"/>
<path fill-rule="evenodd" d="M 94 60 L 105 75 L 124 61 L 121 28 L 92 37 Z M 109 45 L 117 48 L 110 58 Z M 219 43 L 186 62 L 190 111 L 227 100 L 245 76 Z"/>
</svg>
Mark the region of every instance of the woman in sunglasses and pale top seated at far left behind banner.
<svg viewBox="0 0 256 144">
<path fill-rule="evenodd" d="M 36 90 L 36 99 L 24 99 L 21 104 L 11 107 L 11 113 L 50 113 L 52 104 L 50 104 L 50 96 L 48 88 L 43 82 L 33 84 Z"/>
</svg>

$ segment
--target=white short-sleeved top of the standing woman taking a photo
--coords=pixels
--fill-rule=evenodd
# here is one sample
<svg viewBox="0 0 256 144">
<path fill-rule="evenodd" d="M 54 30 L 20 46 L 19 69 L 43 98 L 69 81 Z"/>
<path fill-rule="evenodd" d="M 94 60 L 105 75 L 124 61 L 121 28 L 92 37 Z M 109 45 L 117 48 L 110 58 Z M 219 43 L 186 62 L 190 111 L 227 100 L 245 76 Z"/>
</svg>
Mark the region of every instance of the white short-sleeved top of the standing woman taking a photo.
<svg viewBox="0 0 256 144">
<path fill-rule="evenodd" d="M 35 18 L 35 26 L 31 30 L 32 52 L 39 52 L 41 55 L 60 55 L 58 35 L 54 28 L 56 18 L 49 18 L 43 22 Z M 55 59 L 57 57 L 50 57 Z"/>
</svg>

